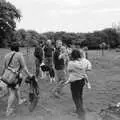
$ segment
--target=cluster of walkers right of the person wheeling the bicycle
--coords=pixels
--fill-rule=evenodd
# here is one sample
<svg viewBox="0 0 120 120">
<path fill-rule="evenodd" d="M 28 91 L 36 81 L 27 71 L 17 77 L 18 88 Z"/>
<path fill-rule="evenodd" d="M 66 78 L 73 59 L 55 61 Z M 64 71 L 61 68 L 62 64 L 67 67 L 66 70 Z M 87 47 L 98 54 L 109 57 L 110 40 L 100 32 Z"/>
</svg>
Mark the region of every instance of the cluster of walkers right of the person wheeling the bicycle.
<svg viewBox="0 0 120 120">
<path fill-rule="evenodd" d="M 36 76 L 38 77 L 40 64 L 44 62 L 46 66 L 49 66 L 55 71 L 55 82 L 57 86 L 53 94 L 59 97 L 62 95 L 62 88 L 70 83 L 72 98 L 76 106 L 76 113 L 83 113 L 83 87 L 87 84 L 88 88 L 91 88 L 87 71 L 92 69 L 92 65 L 87 59 L 87 52 L 80 48 L 66 47 L 61 40 L 56 41 L 55 47 L 52 46 L 51 40 L 47 40 L 45 46 L 41 47 L 40 45 L 39 48 L 36 47 L 35 52 L 37 49 L 42 51 L 40 55 L 42 58 L 35 56 Z M 49 74 L 48 76 L 50 77 Z"/>
</svg>

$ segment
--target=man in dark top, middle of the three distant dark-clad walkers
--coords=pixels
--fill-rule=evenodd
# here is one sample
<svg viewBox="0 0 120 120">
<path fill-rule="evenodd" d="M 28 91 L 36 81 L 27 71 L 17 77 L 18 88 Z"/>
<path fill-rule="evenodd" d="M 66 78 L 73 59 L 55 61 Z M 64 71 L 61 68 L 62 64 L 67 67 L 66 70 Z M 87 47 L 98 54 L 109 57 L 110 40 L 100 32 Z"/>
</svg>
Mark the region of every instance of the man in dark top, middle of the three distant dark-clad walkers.
<svg viewBox="0 0 120 120">
<path fill-rule="evenodd" d="M 43 52 L 44 52 L 44 63 L 45 63 L 45 65 L 48 66 L 50 69 L 52 69 L 53 68 L 54 48 L 52 46 L 52 41 L 51 40 L 46 41 L 46 45 L 43 48 Z"/>
</svg>

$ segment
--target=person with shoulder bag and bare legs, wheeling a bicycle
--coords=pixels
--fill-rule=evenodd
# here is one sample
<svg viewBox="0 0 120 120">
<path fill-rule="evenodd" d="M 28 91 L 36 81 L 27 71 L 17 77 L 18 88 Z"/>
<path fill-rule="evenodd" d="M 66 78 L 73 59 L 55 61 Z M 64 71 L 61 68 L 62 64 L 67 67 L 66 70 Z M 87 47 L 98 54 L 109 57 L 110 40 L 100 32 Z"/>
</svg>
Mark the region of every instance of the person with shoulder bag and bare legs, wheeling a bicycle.
<svg viewBox="0 0 120 120">
<path fill-rule="evenodd" d="M 7 53 L 4 58 L 2 79 L 7 81 L 8 79 L 6 78 L 7 77 L 10 78 L 11 75 L 13 74 L 16 77 L 11 80 L 12 83 L 9 83 L 10 81 L 7 81 L 9 83 L 8 85 L 9 97 L 8 97 L 8 105 L 7 105 L 7 110 L 6 110 L 7 116 L 12 114 L 14 111 L 14 109 L 12 108 L 12 105 L 14 104 L 15 98 L 17 97 L 18 100 L 20 100 L 20 91 L 17 87 L 17 85 L 19 85 L 21 82 L 18 79 L 19 73 L 22 70 L 24 70 L 27 76 L 29 77 L 32 76 L 32 74 L 27 69 L 23 54 L 19 52 L 19 44 L 13 43 L 10 48 L 11 48 L 11 51 Z M 9 73 L 9 75 L 7 75 L 7 73 Z"/>
</svg>

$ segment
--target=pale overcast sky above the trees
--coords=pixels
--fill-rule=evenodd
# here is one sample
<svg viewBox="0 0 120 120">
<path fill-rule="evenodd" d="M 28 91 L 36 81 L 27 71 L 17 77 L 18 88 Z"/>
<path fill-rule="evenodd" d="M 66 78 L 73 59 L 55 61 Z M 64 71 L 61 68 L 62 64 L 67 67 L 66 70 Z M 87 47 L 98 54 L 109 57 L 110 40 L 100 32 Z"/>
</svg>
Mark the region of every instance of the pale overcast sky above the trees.
<svg viewBox="0 0 120 120">
<path fill-rule="evenodd" d="M 17 29 L 93 32 L 120 24 L 120 0 L 6 0 L 21 11 Z"/>
</svg>

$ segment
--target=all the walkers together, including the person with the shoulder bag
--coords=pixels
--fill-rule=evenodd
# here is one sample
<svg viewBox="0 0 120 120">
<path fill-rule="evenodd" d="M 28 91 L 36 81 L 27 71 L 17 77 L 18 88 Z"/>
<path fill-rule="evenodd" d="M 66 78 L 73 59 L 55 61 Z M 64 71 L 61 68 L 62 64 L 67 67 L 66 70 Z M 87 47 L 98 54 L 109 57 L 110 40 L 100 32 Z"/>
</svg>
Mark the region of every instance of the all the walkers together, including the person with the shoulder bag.
<svg viewBox="0 0 120 120">
<path fill-rule="evenodd" d="M 90 61 L 86 59 L 85 51 L 75 47 L 66 47 L 66 45 L 63 45 L 61 40 L 56 40 L 56 44 L 53 47 L 52 41 L 47 40 L 44 45 L 38 44 L 35 47 L 34 58 L 36 65 L 35 76 L 37 81 L 42 79 L 43 71 L 41 69 L 41 64 L 44 63 L 44 65 L 49 68 L 49 71 L 46 72 L 46 76 L 49 77 L 50 81 L 56 82 L 53 95 L 61 96 L 62 88 L 69 83 L 72 98 L 76 107 L 76 113 L 79 115 L 81 113 L 83 114 L 83 87 L 85 84 L 90 87 L 87 72 L 92 69 Z M 12 87 L 11 85 L 8 85 L 9 97 L 6 110 L 6 115 L 8 116 L 13 112 L 12 105 L 16 96 L 19 104 L 22 104 L 25 101 L 24 99 L 21 99 L 19 90 L 22 81 L 21 71 L 24 70 L 26 75 L 29 77 L 31 77 L 32 74 L 28 71 L 23 54 L 19 51 L 19 45 L 17 43 L 11 45 L 11 52 L 7 53 L 5 56 L 3 66 L 4 68 L 1 79 L 5 80 L 8 78 L 9 80 L 12 80 L 13 77 L 10 79 L 8 76 L 13 73 L 17 74 L 17 77 L 15 76 L 14 80 L 12 80 L 17 81 L 14 82 L 14 87 L 13 85 Z M 8 72 L 8 76 L 6 70 L 10 71 Z M 51 78 L 51 70 L 54 71 L 54 78 Z M 13 82 L 10 84 L 13 84 Z"/>
</svg>

